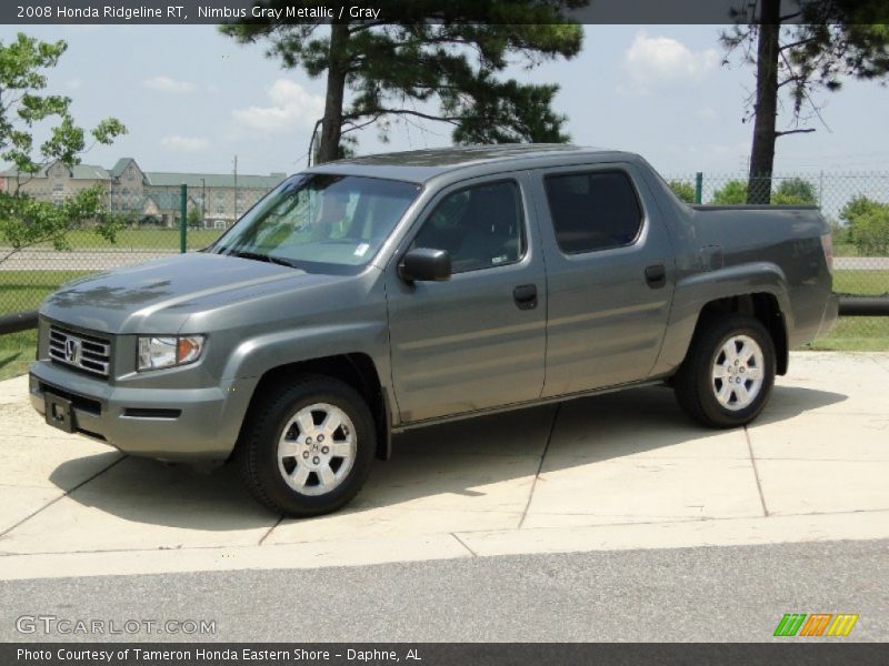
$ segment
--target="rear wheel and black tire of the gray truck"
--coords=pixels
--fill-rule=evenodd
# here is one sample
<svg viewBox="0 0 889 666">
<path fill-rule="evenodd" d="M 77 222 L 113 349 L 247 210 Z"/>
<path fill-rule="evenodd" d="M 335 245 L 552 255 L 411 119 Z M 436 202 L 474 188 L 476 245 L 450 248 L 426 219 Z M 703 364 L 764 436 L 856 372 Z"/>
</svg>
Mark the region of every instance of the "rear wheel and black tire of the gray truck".
<svg viewBox="0 0 889 666">
<path fill-rule="evenodd" d="M 773 384 L 771 335 L 759 320 L 741 314 L 703 322 L 673 377 L 682 410 L 715 428 L 753 421 L 766 406 Z"/>
</svg>

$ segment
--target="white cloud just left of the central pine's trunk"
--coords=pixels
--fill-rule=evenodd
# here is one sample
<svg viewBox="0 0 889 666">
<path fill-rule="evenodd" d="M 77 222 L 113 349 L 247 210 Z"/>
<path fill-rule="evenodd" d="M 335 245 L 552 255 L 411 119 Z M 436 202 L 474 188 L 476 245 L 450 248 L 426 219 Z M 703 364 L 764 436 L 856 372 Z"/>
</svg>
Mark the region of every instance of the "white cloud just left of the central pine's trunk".
<svg viewBox="0 0 889 666">
<path fill-rule="evenodd" d="M 290 79 L 278 79 L 268 91 L 269 107 L 248 107 L 231 112 L 234 120 L 262 132 L 280 132 L 294 125 L 314 127 L 324 111 L 324 100 Z"/>
</svg>

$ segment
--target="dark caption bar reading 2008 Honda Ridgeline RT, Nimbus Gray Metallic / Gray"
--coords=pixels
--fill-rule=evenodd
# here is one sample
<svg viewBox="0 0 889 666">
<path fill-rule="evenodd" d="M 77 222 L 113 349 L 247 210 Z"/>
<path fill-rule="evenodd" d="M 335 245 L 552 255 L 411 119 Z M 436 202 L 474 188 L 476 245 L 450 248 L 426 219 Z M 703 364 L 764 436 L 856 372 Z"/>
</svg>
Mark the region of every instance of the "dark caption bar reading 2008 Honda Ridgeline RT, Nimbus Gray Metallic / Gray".
<svg viewBox="0 0 889 666">
<path fill-rule="evenodd" d="M 850 0 L 782 0 L 786 22 L 803 22 L 800 9 L 817 10 L 818 22 L 831 22 L 831 12 Z M 752 0 L 529 0 L 523 4 L 546 10 L 560 8 L 551 22 L 570 20 L 585 24 L 728 24 L 747 17 L 757 3 Z M 448 20 L 466 23 L 515 22 L 515 14 L 498 13 L 488 0 L 3 0 L 0 22 L 30 24 L 218 24 L 247 20 L 264 22 L 254 13 L 267 10 L 289 23 L 343 20 L 374 22 L 440 22 L 447 8 Z M 288 17 L 288 10 L 290 16 Z M 459 17 L 455 19 L 457 11 Z M 889 2 L 858 0 L 856 23 L 889 22 Z M 547 16 L 549 12 L 543 11 Z M 528 11 L 519 22 L 538 23 L 541 12 Z M 498 20 L 498 17 L 510 17 Z M 827 17 L 827 18 L 823 18 Z"/>
</svg>

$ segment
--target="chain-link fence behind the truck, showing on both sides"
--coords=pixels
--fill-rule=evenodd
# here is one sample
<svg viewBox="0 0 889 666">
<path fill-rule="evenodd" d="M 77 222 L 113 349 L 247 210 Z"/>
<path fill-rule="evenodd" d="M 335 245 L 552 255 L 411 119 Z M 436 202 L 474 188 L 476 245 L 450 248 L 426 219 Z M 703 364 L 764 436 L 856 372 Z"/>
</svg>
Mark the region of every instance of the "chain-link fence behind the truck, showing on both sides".
<svg viewBox="0 0 889 666">
<path fill-rule="evenodd" d="M 667 180 L 688 202 L 747 201 L 745 174 L 690 173 L 668 175 Z M 818 205 L 830 221 L 838 293 L 889 297 L 889 173 L 781 174 L 770 182 L 770 199 L 771 203 Z M 199 219 L 187 221 L 189 251 L 207 246 L 226 226 Z M 48 293 L 74 278 L 180 251 L 178 220 L 151 216 L 130 219 L 113 244 L 89 225 L 73 230 L 68 241 L 69 251 L 36 246 L 10 254 L 11 249 L 3 248 L 0 239 L 0 315 L 36 309 Z M 889 350 L 889 317 L 842 320 L 831 336 L 818 344 Z"/>
</svg>

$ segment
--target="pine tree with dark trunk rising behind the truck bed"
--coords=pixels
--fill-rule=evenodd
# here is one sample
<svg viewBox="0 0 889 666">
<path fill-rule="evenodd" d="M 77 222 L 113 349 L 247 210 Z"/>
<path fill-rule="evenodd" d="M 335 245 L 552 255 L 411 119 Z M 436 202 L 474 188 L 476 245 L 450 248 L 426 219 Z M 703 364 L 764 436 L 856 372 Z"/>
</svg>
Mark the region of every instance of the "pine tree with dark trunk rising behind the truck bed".
<svg viewBox="0 0 889 666">
<path fill-rule="evenodd" d="M 837 91 L 845 77 L 885 79 L 889 74 L 889 28 L 882 0 L 798 0 L 781 13 L 781 0 L 759 0 L 749 7 L 758 16 L 736 12 L 733 30 L 723 32 L 729 61 L 736 50 L 756 65 L 756 92 L 747 100 L 753 120 L 748 175 L 748 203 L 769 203 L 775 144 L 780 137 L 813 132 L 801 127 L 820 119 L 819 91 Z M 791 24 L 793 22 L 793 24 Z M 792 125 L 778 131 L 779 92 L 789 91 Z M 808 115 L 803 115 L 803 109 Z"/>
</svg>

